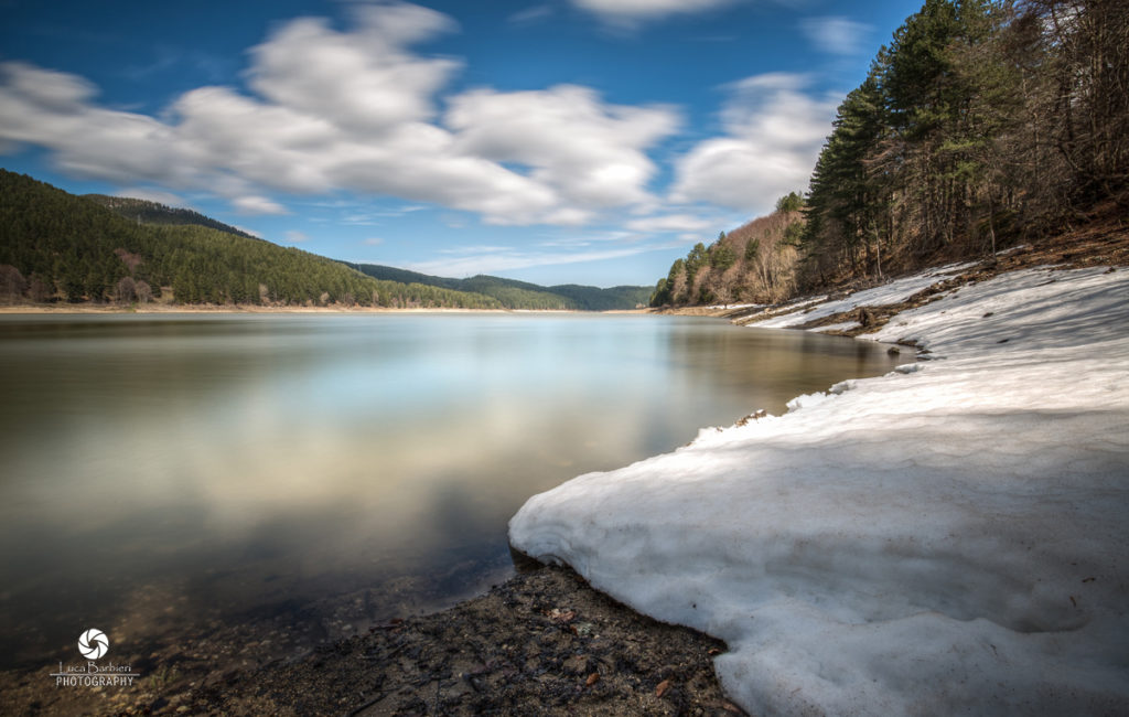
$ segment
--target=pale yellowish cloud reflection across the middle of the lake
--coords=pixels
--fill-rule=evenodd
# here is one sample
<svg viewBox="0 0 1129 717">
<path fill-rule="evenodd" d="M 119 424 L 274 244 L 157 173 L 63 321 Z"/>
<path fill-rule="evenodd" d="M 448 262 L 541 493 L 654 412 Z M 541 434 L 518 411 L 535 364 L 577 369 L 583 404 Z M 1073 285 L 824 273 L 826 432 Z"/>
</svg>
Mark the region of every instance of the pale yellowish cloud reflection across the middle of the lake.
<svg viewBox="0 0 1129 717">
<path fill-rule="evenodd" d="M 429 495 L 449 490 L 452 476 L 474 486 L 479 498 L 466 509 L 485 504 L 495 514 L 576 470 L 641 453 L 644 426 L 631 402 L 593 413 L 580 397 L 532 404 L 495 393 L 470 412 L 440 410 L 412 422 L 347 412 L 296 421 L 256 384 L 227 396 L 217 420 L 174 414 L 128 430 L 94 420 L 65 449 L 37 456 L 59 480 L 26 483 L 20 498 L 35 506 L 29 517 L 73 534 L 177 506 L 202 513 L 198 525 L 216 541 L 321 513 L 323 541 L 356 533 L 399 543 L 418 533 L 417 542 L 430 542 Z"/>
</svg>

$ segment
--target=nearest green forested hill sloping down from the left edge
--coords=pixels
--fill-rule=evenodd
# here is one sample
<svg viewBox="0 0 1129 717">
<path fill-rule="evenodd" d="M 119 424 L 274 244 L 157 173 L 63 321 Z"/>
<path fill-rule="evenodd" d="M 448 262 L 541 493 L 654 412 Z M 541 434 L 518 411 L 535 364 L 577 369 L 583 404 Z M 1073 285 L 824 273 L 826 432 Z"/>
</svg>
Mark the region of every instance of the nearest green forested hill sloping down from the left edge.
<svg viewBox="0 0 1129 717">
<path fill-rule="evenodd" d="M 340 262 L 199 225 L 138 224 L 0 169 L 0 299 L 501 308 L 380 281 Z"/>
</svg>

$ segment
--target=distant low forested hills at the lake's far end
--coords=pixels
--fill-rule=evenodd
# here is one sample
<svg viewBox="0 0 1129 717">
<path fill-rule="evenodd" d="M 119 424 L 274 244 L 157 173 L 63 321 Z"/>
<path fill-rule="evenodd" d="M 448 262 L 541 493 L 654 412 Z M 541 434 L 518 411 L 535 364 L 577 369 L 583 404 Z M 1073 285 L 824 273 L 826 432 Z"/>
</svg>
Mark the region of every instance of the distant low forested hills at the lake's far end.
<svg viewBox="0 0 1129 717">
<path fill-rule="evenodd" d="M 603 312 L 636 308 L 650 298 L 649 287 L 601 289 L 578 285 L 543 287 L 514 279 L 478 276 L 470 279 L 432 277 L 379 264 L 349 264 L 370 277 L 390 281 L 414 281 L 428 286 L 492 296 L 506 308 L 578 309 Z"/>
</svg>

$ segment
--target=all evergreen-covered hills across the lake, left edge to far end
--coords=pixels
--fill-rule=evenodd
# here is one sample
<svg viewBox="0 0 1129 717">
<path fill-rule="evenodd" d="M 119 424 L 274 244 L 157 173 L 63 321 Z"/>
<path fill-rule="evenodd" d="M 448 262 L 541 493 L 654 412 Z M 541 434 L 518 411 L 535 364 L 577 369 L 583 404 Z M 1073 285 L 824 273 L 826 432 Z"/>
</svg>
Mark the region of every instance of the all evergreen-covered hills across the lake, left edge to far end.
<svg viewBox="0 0 1129 717">
<path fill-rule="evenodd" d="M 186 209 L 76 196 L 0 169 L 0 300 L 390 308 L 634 308 L 647 287 L 544 288 L 349 265 Z"/>
</svg>

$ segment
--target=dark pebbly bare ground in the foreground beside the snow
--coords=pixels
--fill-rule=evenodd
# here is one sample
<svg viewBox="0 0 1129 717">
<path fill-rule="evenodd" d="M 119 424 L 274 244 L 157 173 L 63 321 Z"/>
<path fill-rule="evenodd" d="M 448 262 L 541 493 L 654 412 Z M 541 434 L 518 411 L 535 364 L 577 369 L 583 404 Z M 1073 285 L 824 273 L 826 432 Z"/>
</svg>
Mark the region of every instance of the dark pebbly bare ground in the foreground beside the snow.
<svg viewBox="0 0 1129 717">
<path fill-rule="evenodd" d="M 962 274 L 968 283 L 961 286 L 977 283 L 980 279 L 973 274 Z M 919 297 L 916 306 L 929 300 L 929 296 Z M 886 321 L 896 321 L 899 313 L 910 311 L 904 304 Z M 315 312 L 348 313 L 309 313 Z M 834 330 L 830 324 L 828 327 Z M 708 443 L 711 434 L 703 435 Z M 701 440 L 702 436 L 695 443 Z M 475 714 L 484 709 L 506 714 L 743 714 L 727 697 L 733 692 L 718 685 L 714 672 L 714 658 L 725 659 L 724 644 L 690 628 L 673 628 L 642 617 L 605 593 L 616 594 L 614 589 L 593 588 L 569 569 L 543 567 L 453 607 L 378 624 L 366 635 L 297 659 L 264 662 L 209 675 L 202 682 L 186 677 L 150 682 L 133 693 L 99 693 L 81 703 L 47 701 L 41 709 L 43 714 L 106 715 Z M 584 638 L 594 635 L 613 635 L 614 639 L 593 646 Z M 673 659 L 669 653 L 660 652 L 664 642 L 692 654 L 693 666 L 660 664 Z M 520 646 L 519 653 L 515 653 L 515 645 Z M 593 674 L 597 676 L 589 683 Z M 5 702 L 24 711 L 27 700 L 42 697 L 23 694 L 24 701 L 8 702 L 9 693 Z M 115 697 L 125 699 L 114 701 Z"/>
</svg>

